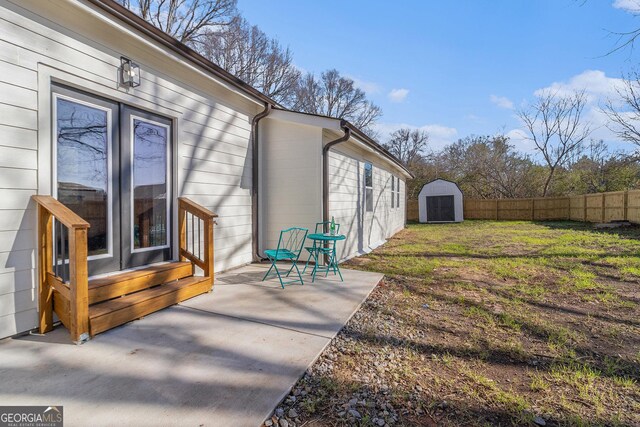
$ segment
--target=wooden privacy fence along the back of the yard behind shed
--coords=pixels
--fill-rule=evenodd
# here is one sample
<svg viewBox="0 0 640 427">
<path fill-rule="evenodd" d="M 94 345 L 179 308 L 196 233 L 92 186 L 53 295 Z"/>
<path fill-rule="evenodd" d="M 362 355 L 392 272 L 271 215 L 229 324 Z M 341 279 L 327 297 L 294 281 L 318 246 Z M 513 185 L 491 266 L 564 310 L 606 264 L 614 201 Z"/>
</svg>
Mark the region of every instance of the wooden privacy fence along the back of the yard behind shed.
<svg viewBox="0 0 640 427">
<path fill-rule="evenodd" d="M 613 191 L 571 197 L 531 199 L 464 199 L 465 219 L 573 220 L 640 223 L 640 190 Z M 407 204 L 407 219 L 418 220 L 418 201 Z"/>
</svg>

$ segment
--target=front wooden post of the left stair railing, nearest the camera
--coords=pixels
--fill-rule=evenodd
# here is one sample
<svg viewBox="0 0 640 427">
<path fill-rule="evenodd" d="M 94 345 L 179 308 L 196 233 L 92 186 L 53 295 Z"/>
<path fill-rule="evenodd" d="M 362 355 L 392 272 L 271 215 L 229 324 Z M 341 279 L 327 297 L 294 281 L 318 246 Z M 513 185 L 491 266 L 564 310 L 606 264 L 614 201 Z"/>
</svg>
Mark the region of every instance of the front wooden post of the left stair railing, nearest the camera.
<svg viewBox="0 0 640 427">
<path fill-rule="evenodd" d="M 87 229 L 69 230 L 69 290 L 71 339 L 83 343 L 89 339 L 89 271 L 87 266 Z"/>
</svg>

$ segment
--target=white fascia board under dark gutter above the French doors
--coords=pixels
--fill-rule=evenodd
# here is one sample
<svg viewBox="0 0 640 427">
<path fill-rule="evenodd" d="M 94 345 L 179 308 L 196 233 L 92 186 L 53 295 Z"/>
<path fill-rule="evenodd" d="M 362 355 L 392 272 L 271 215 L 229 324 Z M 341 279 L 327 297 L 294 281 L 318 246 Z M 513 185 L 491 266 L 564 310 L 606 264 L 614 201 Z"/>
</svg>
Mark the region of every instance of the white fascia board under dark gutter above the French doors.
<svg viewBox="0 0 640 427">
<path fill-rule="evenodd" d="M 191 70 L 197 72 L 198 74 L 201 74 L 207 78 L 209 78 L 210 80 L 214 81 L 216 84 L 222 86 L 223 88 L 251 101 L 251 102 L 255 102 L 258 105 L 264 106 L 264 102 L 260 101 L 259 99 L 256 99 L 254 97 L 252 97 L 251 95 L 249 95 L 248 93 L 240 90 L 239 88 L 224 82 L 222 80 L 218 80 L 217 78 L 215 78 L 214 76 L 212 76 L 209 72 L 201 69 L 200 67 L 198 67 L 195 64 L 192 64 L 191 62 L 187 61 L 186 59 L 184 59 L 183 57 L 181 57 L 180 55 L 174 53 L 174 52 L 170 52 L 167 51 L 165 48 L 158 46 L 154 41 L 149 40 L 147 37 L 139 34 L 137 31 L 130 29 L 126 24 L 123 24 L 122 22 L 118 21 L 117 19 L 107 15 L 106 13 L 103 13 L 97 6 L 88 4 L 88 3 L 84 3 L 84 2 L 73 2 L 72 4 L 76 5 L 77 7 L 79 7 L 80 9 L 84 10 L 86 13 L 93 15 L 94 17 L 96 17 L 97 19 L 99 19 L 100 21 L 103 21 L 105 23 L 107 23 L 109 26 L 113 27 L 116 31 L 118 32 L 122 32 L 122 33 L 126 33 L 128 36 L 135 38 L 136 40 L 143 42 L 146 46 L 149 47 L 149 49 L 158 52 L 160 55 L 164 55 L 182 65 L 187 66 L 188 68 L 190 68 Z"/>
</svg>

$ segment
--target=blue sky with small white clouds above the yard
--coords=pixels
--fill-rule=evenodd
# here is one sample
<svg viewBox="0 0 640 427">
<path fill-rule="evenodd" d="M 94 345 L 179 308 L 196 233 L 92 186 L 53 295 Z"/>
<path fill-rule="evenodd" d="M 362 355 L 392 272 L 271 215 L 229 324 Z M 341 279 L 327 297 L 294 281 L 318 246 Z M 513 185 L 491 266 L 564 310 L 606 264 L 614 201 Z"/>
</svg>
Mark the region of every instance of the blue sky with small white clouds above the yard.
<svg viewBox="0 0 640 427">
<path fill-rule="evenodd" d="M 239 0 L 243 16 L 283 45 L 298 67 L 336 68 L 382 107 L 381 139 L 424 128 L 434 148 L 505 132 L 526 152 L 517 109 L 536 91 L 585 89 L 587 117 L 614 149 L 599 105 L 637 54 L 607 53 L 611 32 L 640 26 L 640 0 Z M 639 46 L 640 47 L 640 46 Z M 638 48 L 636 48 L 638 49 Z"/>
</svg>

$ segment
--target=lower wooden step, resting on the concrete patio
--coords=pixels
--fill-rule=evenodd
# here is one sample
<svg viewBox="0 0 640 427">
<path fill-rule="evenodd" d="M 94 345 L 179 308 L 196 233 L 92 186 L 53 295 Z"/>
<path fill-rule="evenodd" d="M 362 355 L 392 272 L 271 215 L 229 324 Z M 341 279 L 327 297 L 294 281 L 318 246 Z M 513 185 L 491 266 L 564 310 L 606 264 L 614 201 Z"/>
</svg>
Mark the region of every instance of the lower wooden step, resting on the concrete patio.
<svg viewBox="0 0 640 427">
<path fill-rule="evenodd" d="M 211 290 L 211 279 L 186 277 L 89 307 L 91 336 Z"/>
</svg>

